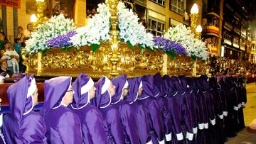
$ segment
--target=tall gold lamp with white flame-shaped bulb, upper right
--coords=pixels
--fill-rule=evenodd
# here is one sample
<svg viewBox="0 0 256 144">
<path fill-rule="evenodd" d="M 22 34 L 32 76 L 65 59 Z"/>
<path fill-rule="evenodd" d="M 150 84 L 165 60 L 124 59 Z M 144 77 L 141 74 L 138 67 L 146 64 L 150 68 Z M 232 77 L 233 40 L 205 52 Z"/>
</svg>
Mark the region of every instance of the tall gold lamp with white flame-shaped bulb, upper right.
<svg viewBox="0 0 256 144">
<path fill-rule="evenodd" d="M 196 35 L 196 26 L 198 22 L 198 16 L 199 16 L 199 10 L 197 4 L 193 4 L 191 8 L 191 14 L 189 15 L 191 17 L 191 31 Z"/>
</svg>

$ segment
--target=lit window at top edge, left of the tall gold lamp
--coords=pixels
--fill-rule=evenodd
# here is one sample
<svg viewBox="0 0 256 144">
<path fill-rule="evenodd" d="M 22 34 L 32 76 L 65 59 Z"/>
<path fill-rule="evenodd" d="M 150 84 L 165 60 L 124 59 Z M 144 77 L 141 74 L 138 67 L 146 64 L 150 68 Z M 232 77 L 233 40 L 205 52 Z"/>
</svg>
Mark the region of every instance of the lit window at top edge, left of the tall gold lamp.
<svg viewBox="0 0 256 144">
<path fill-rule="evenodd" d="M 183 15 L 186 9 L 186 0 L 170 0 L 170 10 Z"/>
</svg>

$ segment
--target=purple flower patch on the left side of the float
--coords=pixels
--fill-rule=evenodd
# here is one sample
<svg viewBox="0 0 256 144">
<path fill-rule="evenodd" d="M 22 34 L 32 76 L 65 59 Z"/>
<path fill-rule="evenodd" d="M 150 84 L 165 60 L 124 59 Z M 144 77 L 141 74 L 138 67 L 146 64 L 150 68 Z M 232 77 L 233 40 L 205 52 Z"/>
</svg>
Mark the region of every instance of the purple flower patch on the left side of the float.
<svg viewBox="0 0 256 144">
<path fill-rule="evenodd" d="M 55 48 L 63 48 L 65 46 L 70 46 L 71 43 L 70 38 L 75 35 L 75 31 L 71 31 L 65 35 L 58 35 L 56 38 L 50 39 L 46 41 L 46 45 L 48 47 L 55 47 Z"/>
</svg>

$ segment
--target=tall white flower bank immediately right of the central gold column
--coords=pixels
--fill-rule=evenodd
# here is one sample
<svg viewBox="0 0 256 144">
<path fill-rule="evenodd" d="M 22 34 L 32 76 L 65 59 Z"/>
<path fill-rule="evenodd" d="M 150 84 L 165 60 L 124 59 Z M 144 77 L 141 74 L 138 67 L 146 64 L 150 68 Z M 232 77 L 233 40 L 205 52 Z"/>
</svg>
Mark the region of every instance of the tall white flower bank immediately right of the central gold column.
<svg viewBox="0 0 256 144">
<path fill-rule="evenodd" d="M 119 18 L 119 38 L 130 47 L 139 45 L 139 48 L 154 50 L 154 39 L 151 33 L 146 33 L 145 27 L 139 23 L 139 18 L 131 9 L 126 9 L 122 1 L 117 5 L 117 16 Z"/>
</svg>

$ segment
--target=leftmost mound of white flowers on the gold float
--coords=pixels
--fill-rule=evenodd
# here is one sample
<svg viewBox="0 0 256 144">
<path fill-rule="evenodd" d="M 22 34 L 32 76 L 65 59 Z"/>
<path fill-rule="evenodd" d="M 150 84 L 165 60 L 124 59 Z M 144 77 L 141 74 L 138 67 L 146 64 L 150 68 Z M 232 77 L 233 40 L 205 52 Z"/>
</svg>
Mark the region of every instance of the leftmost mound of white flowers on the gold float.
<svg viewBox="0 0 256 144">
<path fill-rule="evenodd" d="M 58 35 L 66 35 L 72 31 L 75 31 L 73 20 L 65 18 L 63 14 L 53 16 L 31 33 L 31 38 L 26 40 L 26 51 L 29 54 L 38 51 L 46 52 L 49 49 L 46 41 L 56 38 Z"/>
</svg>

